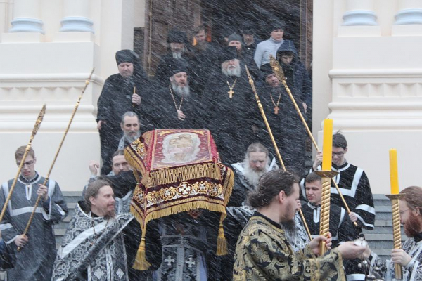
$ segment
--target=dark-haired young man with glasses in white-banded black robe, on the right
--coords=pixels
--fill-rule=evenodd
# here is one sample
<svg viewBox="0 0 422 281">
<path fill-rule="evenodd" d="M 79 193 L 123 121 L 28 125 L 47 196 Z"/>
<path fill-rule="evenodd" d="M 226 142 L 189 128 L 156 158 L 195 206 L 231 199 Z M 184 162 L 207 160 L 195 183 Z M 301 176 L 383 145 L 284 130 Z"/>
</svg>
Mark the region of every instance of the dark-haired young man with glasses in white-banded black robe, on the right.
<svg viewBox="0 0 422 281">
<path fill-rule="evenodd" d="M 347 141 L 345 136 L 341 133 L 335 133 L 333 135 L 333 164 L 331 169 L 338 171 L 339 174 L 335 176 L 334 180 L 350 207 L 349 216 L 352 222 L 357 222 L 360 228 L 373 230 L 375 209 L 373 208 L 371 185 L 369 185 L 368 177 L 363 169 L 347 163 L 346 153 Z M 320 170 L 321 162 L 322 152 L 318 152 L 312 169 Z M 302 195 L 306 196 L 303 188 Z M 344 205 L 333 184 L 331 185 L 331 200 L 339 206 Z M 356 234 L 359 235 L 361 231 L 358 230 Z"/>
</svg>

